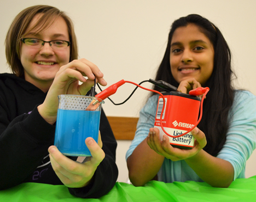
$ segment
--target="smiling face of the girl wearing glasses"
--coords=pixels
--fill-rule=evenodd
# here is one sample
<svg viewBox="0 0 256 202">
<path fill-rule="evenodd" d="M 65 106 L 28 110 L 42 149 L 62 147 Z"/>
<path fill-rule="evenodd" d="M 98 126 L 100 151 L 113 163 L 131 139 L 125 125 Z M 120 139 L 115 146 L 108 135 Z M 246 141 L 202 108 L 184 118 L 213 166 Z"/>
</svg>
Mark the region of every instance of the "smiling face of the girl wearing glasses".
<svg viewBox="0 0 256 202">
<path fill-rule="evenodd" d="M 42 14 L 34 16 L 28 29 L 32 27 Z M 50 27 L 35 34 L 31 30 L 24 38 L 37 38 L 44 41 L 65 40 L 69 41 L 68 28 L 62 17 L 57 17 Z M 42 48 L 32 48 L 21 42 L 20 60 L 24 68 L 25 80 L 36 85 L 43 91 L 50 88 L 53 79 L 60 67 L 69 62 L 70 46 L 61 50 L 53 50 L 49 43 Z"/>
</svg>

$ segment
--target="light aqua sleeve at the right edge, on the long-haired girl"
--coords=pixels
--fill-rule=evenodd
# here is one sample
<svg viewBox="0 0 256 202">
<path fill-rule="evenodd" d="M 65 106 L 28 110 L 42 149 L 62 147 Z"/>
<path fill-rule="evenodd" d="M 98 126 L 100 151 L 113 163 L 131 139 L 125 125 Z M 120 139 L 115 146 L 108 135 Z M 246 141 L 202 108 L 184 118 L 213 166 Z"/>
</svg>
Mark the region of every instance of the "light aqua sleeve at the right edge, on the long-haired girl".
<svg viewBox="0 0 256 202">
<path fill-rule="evenodd" d="M 226 143 L 217 155 L 234 167 L 234 180 L 245 177 L 245 165 L 256 146 L 256 97 L 248 91 L 237 91 L 232 106 Z"/>
</svg>

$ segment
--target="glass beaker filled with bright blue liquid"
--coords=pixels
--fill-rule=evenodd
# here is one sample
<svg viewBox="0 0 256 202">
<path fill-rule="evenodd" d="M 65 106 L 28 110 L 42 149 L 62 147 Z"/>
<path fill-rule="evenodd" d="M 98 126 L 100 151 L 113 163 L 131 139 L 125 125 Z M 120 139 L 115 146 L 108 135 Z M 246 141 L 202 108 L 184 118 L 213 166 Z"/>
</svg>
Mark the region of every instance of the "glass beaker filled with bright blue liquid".
<svg viewBox="0 0 256 202">
<path fill-rule="evenodd" d="M 54 145 L 65 156 L 91 156 L 85 139 L 98 142 L 103 100 L 82 95 L 59 95 Z"/>
</svg>

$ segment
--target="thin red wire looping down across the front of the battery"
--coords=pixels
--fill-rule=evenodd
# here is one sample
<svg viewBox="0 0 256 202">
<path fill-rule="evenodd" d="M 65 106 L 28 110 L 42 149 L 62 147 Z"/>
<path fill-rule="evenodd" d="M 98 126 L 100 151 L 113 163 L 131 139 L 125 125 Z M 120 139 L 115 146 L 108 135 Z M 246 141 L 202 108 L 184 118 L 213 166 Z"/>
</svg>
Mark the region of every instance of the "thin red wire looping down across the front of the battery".
<svg viewBox="0 0 256 202">
<path fill-rule="evenodd" d="M 164 106 L 162 107 L 162 112 L 161 112 L 161 115 L 160 115 L 160 116 L 161 116 L 161 117 L 160 117 L 160 124 L 161 124 L 162 131 L 164 131 L 164 133 L 167 134 L 167 136 L 170 136 L 170 137 L 172 137 L 172 138 L 178 138 L 178 137 L 184 136 L 184 134 L 187 134 L 187 133 L 189 133 L 190 131 L 192 131 L 192 130 L 200 123 L 200 121 L 201 121 L 201 119 L 202 119 L 202 105 L 203 105 L 203 100 L 205 100 L 205 96 L 206 96 L 206 94 L 208 93 L 209 89 L 207 89 L 207 90 L 205 91 L 205 93 L 203 94 L 203 96 L 202 96 L 201 106 L 200 106 L 200 117 L 199 117 L 199 119 L 197 120 L 197 123 L 196 123 L 192 128 L 190 128 L 190 130 L 188 130 L 187 132 L 185 132 L 185 133 L 183 133 L 183 134 L 180 134 L 179 136 L 172 136 L 171 134 L 168 134 L 168 133 L 165 131 L 164 127 L 162 126 L 162 114 L 164 113 L 164 109 L 165 109 L 165 97 L 164 97 L 164 95 L 162 95 L 159 91 L 152 90 L 152 89 L 148 89 L 148 88 L 144 88 L 144 87 L 142 87 L 141 85 L 139 85 L 139 84 L 137 84 L 137 83 L 134 83 L 134 82 L 131 82 L 131 81 L 125 81 L 125 83 L 132 83 L 132 84 L 134 84 L 134 85 L 137 85 L 137 87 L 139 87 L 139 88 L 142 88 L 142 89 L 144 89 L 144 90 L 152 91 L 152 92 L 154 92 L 154 93 L 159 94 L 159 95 L 162 97 L 162 99 L 163 99 L 163 101 L 164 101 Z"/>
</svg>

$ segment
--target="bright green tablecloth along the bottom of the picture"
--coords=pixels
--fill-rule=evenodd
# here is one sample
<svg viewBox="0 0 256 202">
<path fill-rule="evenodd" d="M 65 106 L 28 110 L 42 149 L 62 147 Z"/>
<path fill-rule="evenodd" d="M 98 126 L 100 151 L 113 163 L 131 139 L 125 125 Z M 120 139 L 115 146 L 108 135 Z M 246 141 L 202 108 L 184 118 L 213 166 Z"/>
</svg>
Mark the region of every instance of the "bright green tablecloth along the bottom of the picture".
<svg viewBox="0 0 256 202">
<path fill-rule="evenodd" d="M 1 182 L 0 182 L 1 183 Z M 19 186 L 0 191 L 0 201 L 181 201 L 210 202 L 256 201 L 256 176 L 237 179 L 229 188 L 213 188 L 205 182 L 164 183 L 150 181 L 144 187 L 134 187 L 123 182 L 115 183 L 114 188 L 100 199 L 82 199 L 69 194 L 63 185 L 23 183 Z"/>
</svg>

